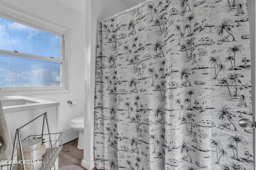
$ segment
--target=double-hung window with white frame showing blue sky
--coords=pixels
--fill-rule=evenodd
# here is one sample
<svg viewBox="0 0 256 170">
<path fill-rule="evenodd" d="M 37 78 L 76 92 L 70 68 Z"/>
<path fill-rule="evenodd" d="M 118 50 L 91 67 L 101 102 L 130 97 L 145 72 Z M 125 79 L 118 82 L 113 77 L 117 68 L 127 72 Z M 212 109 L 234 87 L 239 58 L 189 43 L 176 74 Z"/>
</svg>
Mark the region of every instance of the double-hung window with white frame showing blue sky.
<svg viewBox="0 0 256 170">
<path fill-rule="evenodd" d="M 65 40 L 69 29 L 4 9 L 0 12 L 0 88 L 5 92 L 68 89 Z"/>
</svg>

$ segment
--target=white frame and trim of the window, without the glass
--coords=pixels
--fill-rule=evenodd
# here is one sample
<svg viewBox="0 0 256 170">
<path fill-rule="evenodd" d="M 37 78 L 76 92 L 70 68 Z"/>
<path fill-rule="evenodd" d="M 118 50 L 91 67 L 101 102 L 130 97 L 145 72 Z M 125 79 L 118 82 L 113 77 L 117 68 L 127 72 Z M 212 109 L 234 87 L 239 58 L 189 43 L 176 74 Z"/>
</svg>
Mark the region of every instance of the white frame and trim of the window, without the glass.
<svg viewBox="0 0 256 170">
<path fill-rule="evenodd" d="M 43 87 L 1 87 L 1 93 L 12 94 L 12 95 L 37 95 L 37 94 L 55 94 L 55 93 L 68 93 L 70 92 L 70 78 L 69 78 L 69 65 L 70 61 L 70 29 L 54 23 L 52 21 L 46 20 L 40 16 L 36 16 L 20 8 L 16 8 L 9 4 L 0 1 L 0 17 L 7 20 L 15 21 L 29 27 L 34 27 L 42 31 L 52 33 L 61 37 L 63 48 L 61 48 L 60 60 L 52 59 L 47 57 L 40 57 L 35 55 L 28 55 L 24 53 L 17 53 L 12 51 L 0 50 L 0 54 L 11 55 L 17 57 L 24 57 L 29 59 L 41 59 L 44 61 L 60 62 L 61 66 L 61 76 L 62 76 L 62 86 L 43 86 Z M 68 63 L 69 62 L 69 63 Z"/>
</svg>

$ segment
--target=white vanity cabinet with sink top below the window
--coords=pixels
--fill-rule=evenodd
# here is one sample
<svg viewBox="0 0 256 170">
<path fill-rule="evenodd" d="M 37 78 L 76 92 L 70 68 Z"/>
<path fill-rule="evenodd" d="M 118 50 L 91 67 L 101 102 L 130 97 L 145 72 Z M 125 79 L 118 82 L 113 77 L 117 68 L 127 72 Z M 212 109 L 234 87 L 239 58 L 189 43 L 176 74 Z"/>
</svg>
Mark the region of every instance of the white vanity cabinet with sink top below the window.
<svg viewBox="0 0 256 170">
<path fill-rule="evenodd" d="M 50 134 L 52 136 L 51 137 L 52 145 L 54 145 L 54 143 L 56 142 L 57 140 L 56 138 L 58 138 L 58 136 L 61 136 L 58 133 L 58 106 L 59 106 L 58 102 L 40 100 L 36 98 L 28 98 L 25 96 L 6 96 L 1 98 L 1 102 L 3 106 L 4 117 L 6 119 L 8 131 L 12 139 L 12 144 L 14 144 L 16 129 L 26 125 L 26 123 L 44 114 L 45 112 L 47 113 L 48 125 L 50 129 Z M 43 121 L 44 121 L 44 115 L 38 117 L 38 119 L 35 119 L 34 121 L 28 123 L 26 126 L 22 127 L 20 129 L 21 140 L 27 138 L 28 136 L 34 136 L 34 135 L 36 135 L 36 137 L 41 137 L 40 135 L 42 134 Z M 43 138 L 45 139 L 45 141 L 50 141 L 49 135 L 46 135 L 46 134 L 49 134 L 46 121 L 44 123 L 43 134 L 44 134 Z M 53 136 L 55 136 L 55 139 Z M 31 138 L 33 137 L 30 137 L 30 139 Z M 18 140 L 17 140 L 17 143 L 18 143 Z M 58 141 L 58 145 L 52 146 L 52 147 L 61 149 L 59 147 L 60 144 L 62 148 L 62 141 L 61 142 Z M 48 147 L 46 146 L 46 148 L 50 149 L 51 146 L 48 145 Z M 58 156 L 58 153 L 56 156 Z M 56 156 L 54 155 L 55 158 Z M 56 166 L 56 169 L 58 169 L 58 157 L 54 159 L 54 161 L 55 160 L 56 162 L 54 164 Z M 46 169 L 49 170 L 50 168 L 46 168 Z"/>
</svg>

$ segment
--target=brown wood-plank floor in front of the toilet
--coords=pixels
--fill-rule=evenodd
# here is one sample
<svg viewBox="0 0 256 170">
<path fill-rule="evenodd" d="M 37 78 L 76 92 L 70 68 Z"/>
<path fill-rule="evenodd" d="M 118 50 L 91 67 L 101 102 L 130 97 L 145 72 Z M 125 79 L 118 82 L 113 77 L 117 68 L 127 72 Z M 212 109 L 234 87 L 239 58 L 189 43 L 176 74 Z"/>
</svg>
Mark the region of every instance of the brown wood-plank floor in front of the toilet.
<svg viewBox="0 0 256 170">
<path fill-rule="evenodd" d="M 59 168 L 67 165 L 81 166 L 81 161 L 84 158 L 84 150 L 77 149 L 78 139 L 65 143 L 59 154 Z M 84 167 L 82 167 L 84 168 Z M 84 170 L 87 170 L 84 168 Z M 93 170 L 97 170 L 94 168 Z"/>
</svg>

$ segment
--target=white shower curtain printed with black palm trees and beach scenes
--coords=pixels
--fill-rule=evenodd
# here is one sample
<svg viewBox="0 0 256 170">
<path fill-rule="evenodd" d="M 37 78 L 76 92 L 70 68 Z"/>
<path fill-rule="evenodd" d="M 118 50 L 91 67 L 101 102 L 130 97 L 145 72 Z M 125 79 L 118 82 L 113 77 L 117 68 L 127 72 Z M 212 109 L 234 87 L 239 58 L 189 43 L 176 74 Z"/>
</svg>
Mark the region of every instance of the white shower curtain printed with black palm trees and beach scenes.
<svg viewBox="0 0 256 170">
<path fill-rule="evenodd" d="M 98 23 L 94 160 L 104 170 L 252 170 L 246 0 L 154 0 Z"/>
</svg>

